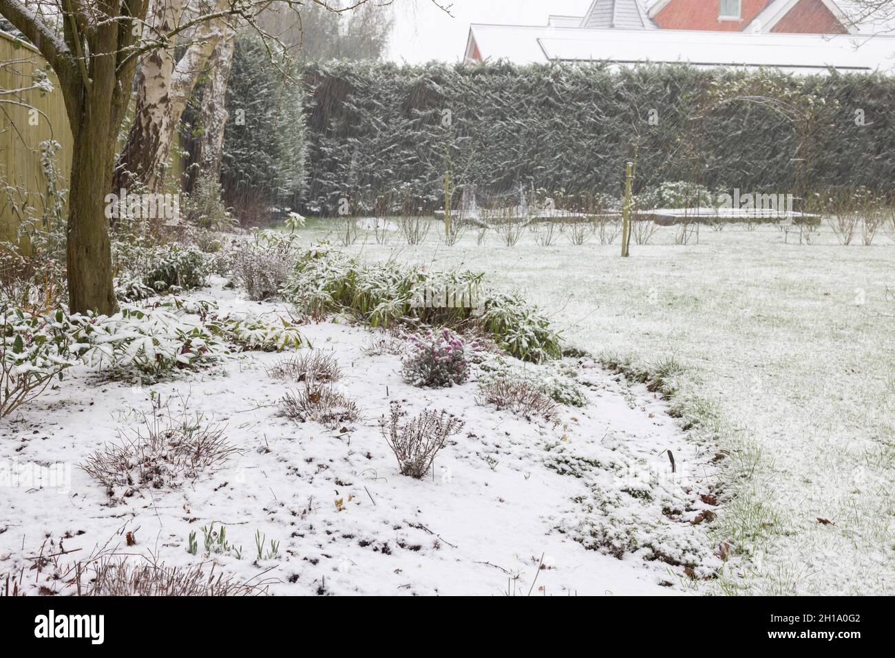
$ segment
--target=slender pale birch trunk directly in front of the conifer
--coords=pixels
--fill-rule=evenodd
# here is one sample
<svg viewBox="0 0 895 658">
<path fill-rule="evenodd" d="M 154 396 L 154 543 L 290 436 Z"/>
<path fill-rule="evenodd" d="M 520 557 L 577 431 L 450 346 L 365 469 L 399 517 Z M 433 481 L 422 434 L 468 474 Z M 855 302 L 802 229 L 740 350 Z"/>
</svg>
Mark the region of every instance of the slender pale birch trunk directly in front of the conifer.
<svg viewBox="0 0 895 658">
<path fill-rule="evenodd" d="M 200 173 L 217 180 L 220 176 L 221 158 L 224 156 L 224 129 L 229 114 L 226 111 L 226 89 L 233 65 L 236 47 L 236 31 L 228 28 L 209 61 L 211 76 L 202 92 L 202 109 L 199 122 L 202 134 L 196 162 Z"/>
</svg>

